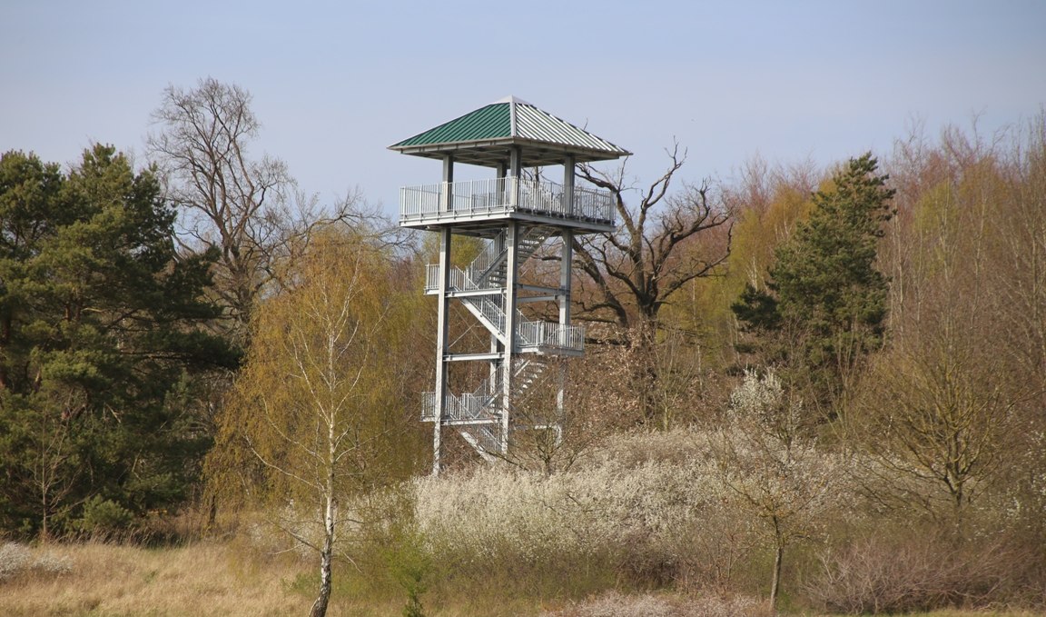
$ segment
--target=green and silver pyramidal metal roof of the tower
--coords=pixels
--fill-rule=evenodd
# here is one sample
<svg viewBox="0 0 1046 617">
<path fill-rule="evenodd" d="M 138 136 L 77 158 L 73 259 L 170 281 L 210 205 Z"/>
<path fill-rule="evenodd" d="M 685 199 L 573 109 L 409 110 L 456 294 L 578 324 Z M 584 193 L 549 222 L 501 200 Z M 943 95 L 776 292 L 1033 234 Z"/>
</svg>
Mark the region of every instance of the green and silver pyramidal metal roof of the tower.
<svg viewBox="0 0 1046 617">
<path fill-rule="evenodd" d="M 438 127 L 389 146 L 403 154 L 473 164 L 501 164 L 520 147 L 523 164 L 559 164 L 565 155 L 577 162 L 609 160 L 631 153 L 563 120 L 533 104 L 507 96 Z"/>
</svg>

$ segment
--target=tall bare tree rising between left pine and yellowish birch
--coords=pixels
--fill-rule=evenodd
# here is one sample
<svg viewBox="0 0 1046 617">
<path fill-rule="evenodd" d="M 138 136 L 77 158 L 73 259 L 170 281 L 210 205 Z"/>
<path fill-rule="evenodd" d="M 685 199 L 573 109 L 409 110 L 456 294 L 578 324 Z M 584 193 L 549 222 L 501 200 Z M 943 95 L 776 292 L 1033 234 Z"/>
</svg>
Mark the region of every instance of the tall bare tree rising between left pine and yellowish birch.
<svg viewBox="0 0 1046 617">
<path fill-rule="evenodd" d="M 248 91 L 212 78 L 191 90 L 169 86 L 153 113 L 160 130 L 149 137 L 181 213 L 181 237 L 195 251 L 218 250 L 215 290 L 242 338 L 278 261 L 302 249 L 313 226 L 357 216 L 360 199 L 349 194 L 325 212 L 297 192 L 282 160 L 252 158 L 262 125 L 250 104 Z"/>
</svg>

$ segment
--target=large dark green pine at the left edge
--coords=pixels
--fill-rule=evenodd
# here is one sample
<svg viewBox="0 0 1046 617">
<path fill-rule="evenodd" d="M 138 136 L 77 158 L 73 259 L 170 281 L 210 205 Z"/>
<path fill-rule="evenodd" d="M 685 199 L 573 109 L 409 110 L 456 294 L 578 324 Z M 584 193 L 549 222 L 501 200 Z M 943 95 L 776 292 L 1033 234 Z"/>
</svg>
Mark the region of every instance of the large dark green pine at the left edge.
<svg viewBox="0 0 1046 617">
<path fill-rule="evenodd" d="M 172 397 L 236 361 L 198 329 L 209 263 L 178 258 L 153 171 L 111 147 L 68 176 L 9 152 L 0 178 L 0 522 L 46 538 L 92 503 L 176 507 L 206 439 Z"/>
</svg>

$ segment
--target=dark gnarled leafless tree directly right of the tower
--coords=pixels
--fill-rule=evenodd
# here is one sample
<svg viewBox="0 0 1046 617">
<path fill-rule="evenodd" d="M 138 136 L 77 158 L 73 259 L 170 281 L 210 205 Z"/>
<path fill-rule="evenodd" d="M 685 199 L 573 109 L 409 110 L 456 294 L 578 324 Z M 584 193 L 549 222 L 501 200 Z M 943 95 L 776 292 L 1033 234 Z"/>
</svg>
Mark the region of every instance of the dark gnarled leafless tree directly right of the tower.
<svg viewBox="0 0 1046 617">
<path fill-rule="evenodd" d="M 690 282 L 721 272 L 730 254 L 731 213 L 712 202 L 707 185 L 685 186 L 668 194 L 685 154 L 678 147 L 658 180 L 640 192 L 626 183 L 624 167 L 608 173 L 581 166 L 578 175 L 614 199 L 616 232 L 574 239 L 574 265 L 582 277 L 573 299 L 575 316 L 615 326 L 615 343 L 635 350 L 632 388 L 639 393 L 643 421 L 655 419 L 659 374 L 651 351 L 657 341 L 658 317 Z"/>
</svg>

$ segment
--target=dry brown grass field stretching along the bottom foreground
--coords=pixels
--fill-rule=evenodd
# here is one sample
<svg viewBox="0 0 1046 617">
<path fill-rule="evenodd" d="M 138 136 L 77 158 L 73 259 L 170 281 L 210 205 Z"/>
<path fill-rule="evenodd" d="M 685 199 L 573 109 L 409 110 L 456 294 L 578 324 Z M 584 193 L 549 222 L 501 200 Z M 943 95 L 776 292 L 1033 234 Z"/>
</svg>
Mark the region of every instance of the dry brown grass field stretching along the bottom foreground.
<svg viewBox="0 0 1046 617">
<path fill-rule="evenodd" d="M 9 545 L 8 545 L 9 547 Z M 199 542 L 145 549 L 100 543 L 20 548 L 21 560 L 0 564 L 0 615 L 197 616 L 306 615 L 312 604 L 310 564 L 266 555 L 235 542 Z M 8 555 L 9 557 L 9 555 Z M 13 565 L 14 564 L 14 565 Z M 353 597 L 336 592 L 329 615 L 402 615 L 402 598 Z M 388 595 L 388 594 L 383 594 Z M 364 594 L 365 596 L 365 594 Z M 461 617 L 729 617 L 765 615 L 744 598 L 609 592 L 575 602 L 513 598 L 430 598 L 426 614 Z M 935 612 L 926 617 L 1031 617 L 1027 612 Z"/>
</svg>

